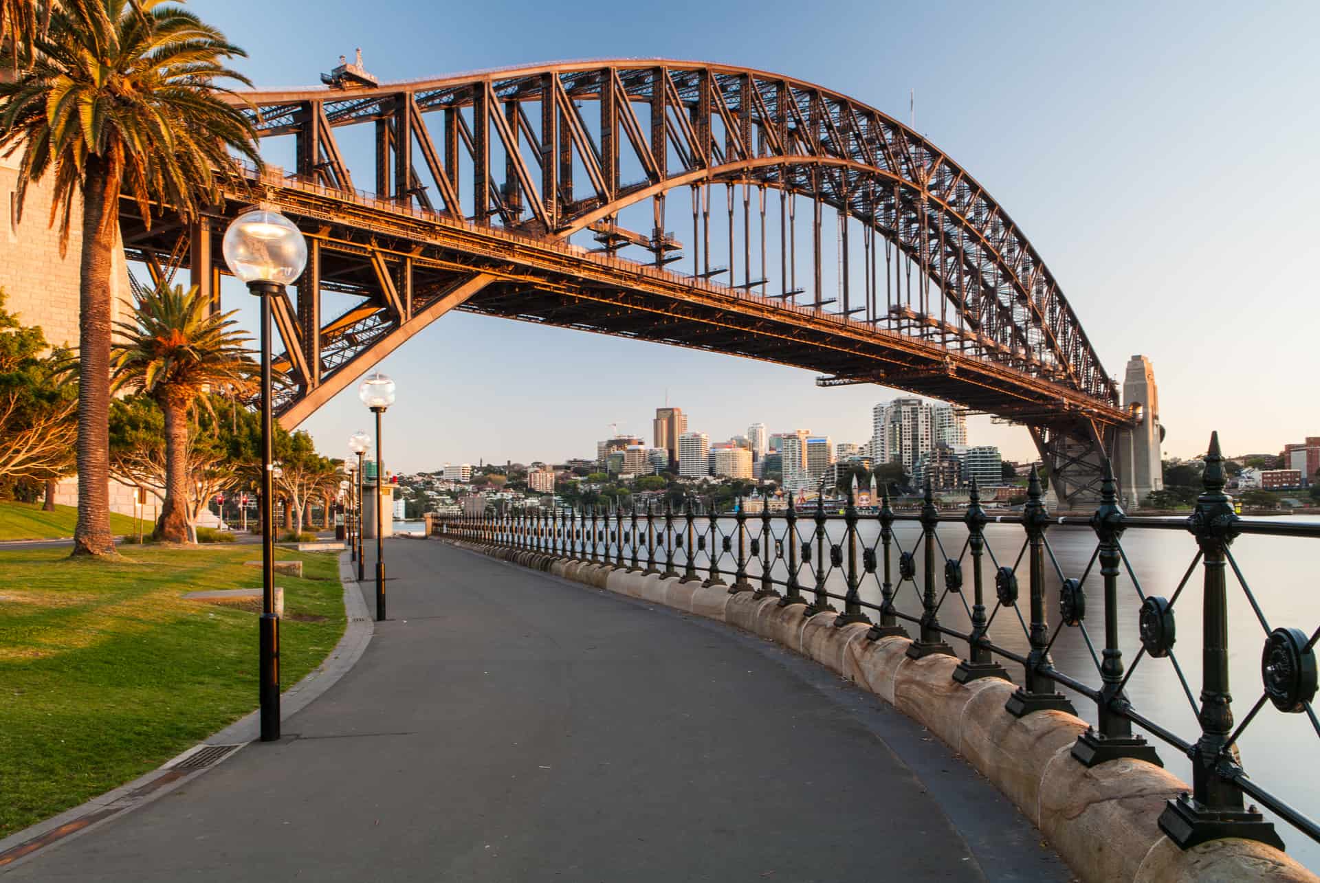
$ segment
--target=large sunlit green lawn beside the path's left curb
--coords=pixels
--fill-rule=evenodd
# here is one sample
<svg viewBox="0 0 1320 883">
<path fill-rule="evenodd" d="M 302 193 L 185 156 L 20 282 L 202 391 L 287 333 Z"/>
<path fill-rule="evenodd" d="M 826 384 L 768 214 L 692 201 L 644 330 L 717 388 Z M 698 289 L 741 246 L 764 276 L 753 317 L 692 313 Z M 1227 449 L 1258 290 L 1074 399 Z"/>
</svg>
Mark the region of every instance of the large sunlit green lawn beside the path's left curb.
<svg viewBox="0 0 1320 883">
<path fill-rule="evenodd" d="M 116 561 L 0 550 L 0 837 L 158 767 L 256 707 L 255 605 L 185 601 L 248 589 L 253 548 L 128 546 Z M 337 558 L 301 558 L 285 593 L 280 681 L 343 634 Z M 247 607 L 247 610 L 244 610 Z"/>
</svg>

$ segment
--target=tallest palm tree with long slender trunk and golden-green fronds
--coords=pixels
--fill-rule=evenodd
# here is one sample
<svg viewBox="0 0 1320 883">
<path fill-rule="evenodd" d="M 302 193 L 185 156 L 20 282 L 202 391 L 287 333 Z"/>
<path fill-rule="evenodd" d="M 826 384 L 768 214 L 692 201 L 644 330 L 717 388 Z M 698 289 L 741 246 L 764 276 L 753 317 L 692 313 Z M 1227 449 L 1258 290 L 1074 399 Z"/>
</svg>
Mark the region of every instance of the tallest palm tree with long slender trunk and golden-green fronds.
<svg viewBox="0 0 1320 883">
<path fill-rule="evenodd" d="M 4 3 L 5 0 L 0 0 Z M 11 3 L 12 5 L 12 3 Z M 219 201 L 230 149 L 260 165 L 252 124 L 226 104 L 218 81 L 243 55 L 197 16 L 161 0 L 51 4 L 32 63 L 0 83 L 0 153 L 22 148 L 17 199 L 54 176 L 50 223 L 62 243 L 82 209 L 78 401 L 78 528 L 74 554 L 114 554 L 108 414 L 111 255 L 120 193 L 185 219 Z M 17 21 L 17 18 L 16 18 Z"/>
</svg>

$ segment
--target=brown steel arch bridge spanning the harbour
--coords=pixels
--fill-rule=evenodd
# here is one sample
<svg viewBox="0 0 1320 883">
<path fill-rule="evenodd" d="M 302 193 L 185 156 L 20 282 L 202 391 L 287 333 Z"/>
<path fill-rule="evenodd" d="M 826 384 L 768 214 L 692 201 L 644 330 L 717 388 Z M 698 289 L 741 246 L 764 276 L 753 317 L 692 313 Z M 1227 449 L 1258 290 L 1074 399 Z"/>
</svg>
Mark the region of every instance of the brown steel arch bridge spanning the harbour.
<svg viewBox="0 0 1320 883">
<path fill-rule="evenodd" d="M 776 362 L 821 385 L 876 383 L 1016 421 L 1064 504 L 1090 496 L 1133 424 L 1008 214 L 861 102 L 667 59 L 362 82 L 243 94 L 263 139 L 292 136 L 294 168 L 234 176 L 227 205 L 201 222 L 148 227 L 121 209 L 131 259 L 153 276 L 186 261 L 213 292 L 230 216 L 260 201 L 300 224 L 308 271 L 275 309 L 286 426 L 453 309 Z M 355 177 L 346 139 L 370 145 L 374 168 Z M 721 189 L 726 247 L 711 245 Z M 676 202 L 690 207 L 688 247 L 668 230 Z M 647 207 L 651 230 L 623 223 Z M 325 293 L 360 300 L 323 315 Z"/>
</svg>

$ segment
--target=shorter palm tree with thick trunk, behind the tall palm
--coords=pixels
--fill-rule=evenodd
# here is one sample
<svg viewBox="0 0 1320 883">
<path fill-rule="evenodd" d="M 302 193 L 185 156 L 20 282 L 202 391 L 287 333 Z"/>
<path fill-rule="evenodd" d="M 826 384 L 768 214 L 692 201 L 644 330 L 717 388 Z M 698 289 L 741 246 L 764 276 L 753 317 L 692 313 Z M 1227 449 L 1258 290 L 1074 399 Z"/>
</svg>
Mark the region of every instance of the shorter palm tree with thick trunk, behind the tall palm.
<svg viewBox="0 0 1320 883">
<path fill-rule="evenodd" d="M 236 310 L 211 313 L 211 301 L 195 286 L 161 285 L 137 296 L 131 322 L 116 322 L 114 385 L 144 392 L 165 414 L 165 504 L 153 536 L 186 542 L 187 418 L 207 392 L 251 383 L 257 364 L 234 321 Z M 211 416 L 215 413 L 211 410 Z"/>
</svg>

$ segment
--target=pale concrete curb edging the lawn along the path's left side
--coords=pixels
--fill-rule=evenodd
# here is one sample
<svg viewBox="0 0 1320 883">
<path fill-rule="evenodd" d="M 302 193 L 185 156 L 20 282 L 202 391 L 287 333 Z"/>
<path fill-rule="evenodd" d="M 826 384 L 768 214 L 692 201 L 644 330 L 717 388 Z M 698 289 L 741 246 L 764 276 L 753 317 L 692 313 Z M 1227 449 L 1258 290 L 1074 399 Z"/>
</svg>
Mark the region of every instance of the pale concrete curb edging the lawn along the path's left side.
<svg viewBox="0 0 1320 883">
<path fill-rule="evenodd" d="M 281 721 L 288 721 L 305 709 L 347 674 L 348 669 L 362 659 L 362 653 L 367 649 L 375 632 L 347 553 L 339 556 L 339 583 L 343 587 L 343 607 L 347 620 L 343 635 L 321 665 L 280 694 Z M 112 818 L 164 797 L 176 788 L 214 769 L 242 751 L 248 742 L 257 739 L 260 726 L 260 711 L 252 711 L 187 751 L 170 758 L 156 769 L 92 797 L 79 806 L 66 809 L 58 816 L 51 816 L 0 839 L 0 874 L 13 870 L 44 850 L 67 843 Z M 232 750 L 197 769 L 181 766 L 202 750 L 215 746 L 232 747 Z"/>
</svg>

